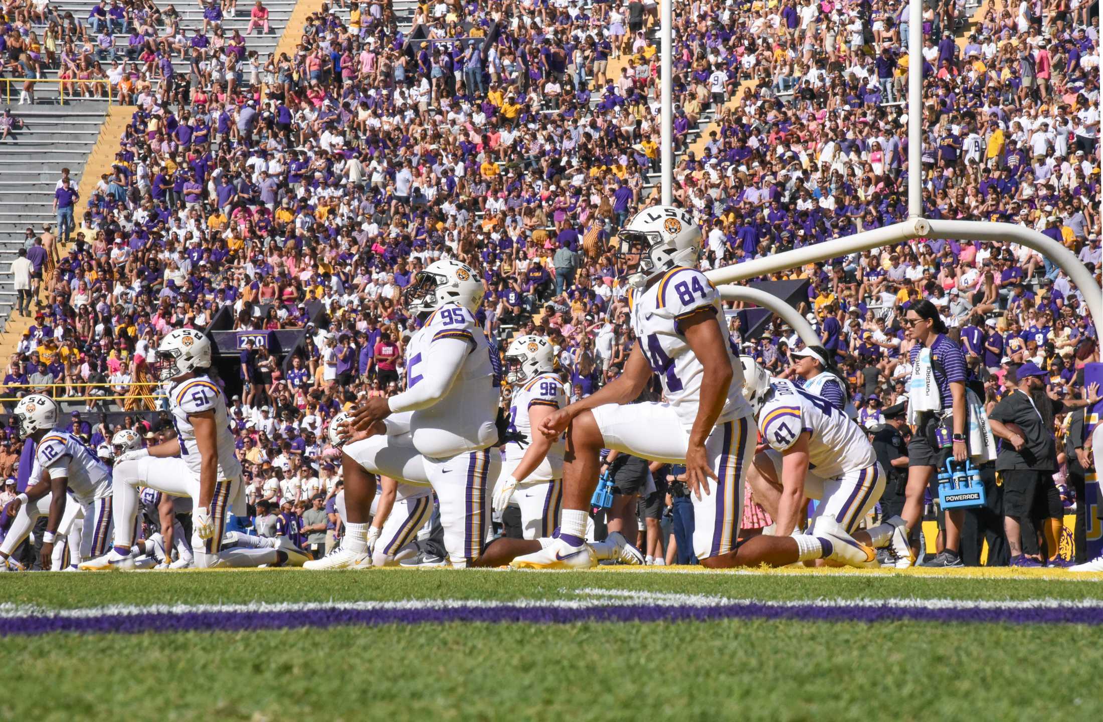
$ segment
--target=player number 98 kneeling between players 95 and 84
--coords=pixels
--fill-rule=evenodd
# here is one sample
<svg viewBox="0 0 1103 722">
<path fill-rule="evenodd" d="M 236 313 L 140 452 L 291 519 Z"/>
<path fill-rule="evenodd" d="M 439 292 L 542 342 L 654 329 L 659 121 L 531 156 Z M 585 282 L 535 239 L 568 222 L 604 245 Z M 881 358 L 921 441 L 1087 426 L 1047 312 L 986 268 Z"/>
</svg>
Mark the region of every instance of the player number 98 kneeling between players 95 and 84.
<svg viewBox="0 0 1103 722">
<path fill-rule="evenodd" d="M 567 406 L 567 395 L 553 367 L 552 344 L 543 336 L 515 338 L 505 353 L 505 378 L 513 386 L 513 395 L 505 434 L 505 464 L 494 492 L 494 510 L 502 513 L 511 504 L 516 505 L 524 539 L 503 537 L 488 545 L 482 561 L 489 567 L 539 551 L 549 542 L 559 521 L 563 439 L 535 431 L 548 414 Z M 589 548 L 597 559 L 643 563 L 640 550 L 619 531 Z"/>
</svg>

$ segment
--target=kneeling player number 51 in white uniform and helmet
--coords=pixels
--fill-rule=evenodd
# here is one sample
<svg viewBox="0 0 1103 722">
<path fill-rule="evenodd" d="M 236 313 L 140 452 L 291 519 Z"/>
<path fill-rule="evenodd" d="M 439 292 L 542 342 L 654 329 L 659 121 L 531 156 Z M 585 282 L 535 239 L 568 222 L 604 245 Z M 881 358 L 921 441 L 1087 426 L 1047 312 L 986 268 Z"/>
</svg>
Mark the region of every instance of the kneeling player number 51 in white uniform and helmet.
<svg viewBox="0 0 1103 722">
<path fill-rule="evenodd" d="M 222 549 L 226 514 L 231 507 L 245 509 L 245 485 L 234 454 L 226 398 L 207 375 L 210 366 L 211 341 L 201 332 L 176 328 L 161 341 L 154 369 L 168 386 L 176 437 L 156 446 L 130 450 L 116 460 L 115 548 L 83 562 L 81 569 L 135 568 L 131 543 L 142 486 L 192 498 L 192 552 L 201 569 L 298 565 L 308 559 L 290 542 L 279 549 Z"/>
</svg>

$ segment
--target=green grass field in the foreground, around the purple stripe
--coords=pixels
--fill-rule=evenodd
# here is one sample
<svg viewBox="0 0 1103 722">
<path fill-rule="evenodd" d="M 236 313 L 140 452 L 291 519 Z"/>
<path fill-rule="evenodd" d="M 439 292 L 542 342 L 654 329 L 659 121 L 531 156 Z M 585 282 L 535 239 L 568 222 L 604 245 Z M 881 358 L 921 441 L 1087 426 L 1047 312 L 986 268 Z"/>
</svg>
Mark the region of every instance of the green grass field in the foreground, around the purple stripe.
<svg viewBox="0 0 1103 722">
<path fill-rule="evenodd" d="M 38 615 L 124 605 L 104 614 L 125 616 L 126 610 L 144 605 L 408 602 L 416 615 L 441 604 L 569 606 L 608 594 L 620 595 L 608 602 L 613 606 L 619 599 L 692 606 L 725 597 L 782 605 L 976 602 L 1010 610 L 1040 600 L 1092 606 L 1103 597 L 1097 580 L 1015 576 L 674 570 L 6 574 L 0 633 L 28 605 Z M 929 720 L 977 714 L 1088 720 L 1103 714 L 1103 626 L 1097 623 L 760 615 L 216 628 L 0 637 L 8 682 L 0 720 L 121 714 L 157 720 Z"/>
</svg>

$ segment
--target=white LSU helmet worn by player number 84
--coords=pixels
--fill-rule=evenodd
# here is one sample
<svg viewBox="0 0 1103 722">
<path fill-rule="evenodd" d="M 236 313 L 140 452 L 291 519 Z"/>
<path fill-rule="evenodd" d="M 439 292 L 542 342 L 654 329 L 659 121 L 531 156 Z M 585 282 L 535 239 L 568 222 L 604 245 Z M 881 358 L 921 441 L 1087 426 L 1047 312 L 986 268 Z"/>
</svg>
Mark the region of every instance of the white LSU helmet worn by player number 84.
<svg viewBox="0 0 1103 722">
<path fill-rule="evenodd" d="M 700 255 L 700 226 L 685 208 L 653 206 L 635 214 L 617 234 L 618 258 L 639 256 L 630 277 L 633 285 L 678 266 L 696 268 Z"/>
</svg>

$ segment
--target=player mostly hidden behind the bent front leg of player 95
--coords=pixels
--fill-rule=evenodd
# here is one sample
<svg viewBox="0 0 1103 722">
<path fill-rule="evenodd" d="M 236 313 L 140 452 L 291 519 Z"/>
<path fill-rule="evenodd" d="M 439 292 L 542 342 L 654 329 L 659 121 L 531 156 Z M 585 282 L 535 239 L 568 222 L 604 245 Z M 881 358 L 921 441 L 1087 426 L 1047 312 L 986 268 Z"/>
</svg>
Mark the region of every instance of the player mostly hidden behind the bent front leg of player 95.
<svg viewBox="0 0 1103 722">
<path fill-rule="evenodd" d="M 342 411 L 330 421 L 330 443 L 336 449 L 345 443 L 341 434 L 350 418 L 347 411 Z M 367 530 L 371 565 L 395 567 L 405 558 L 399 552 L 414 541 L 432 515 L 432 487 L 381 476 L 378 492 L 372 499 L 372 526 Z M 333 508 L 341 522 L 347 525 L 344 491 L 333 497 Z M 340 553 L 340 546 L 331 549 L 326 557 L 333 553 Z M 366 565 L 366 562 L 362 563 L 362 567 Z"/>
</svg>

